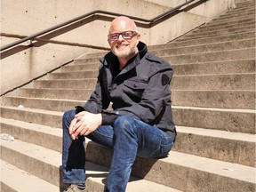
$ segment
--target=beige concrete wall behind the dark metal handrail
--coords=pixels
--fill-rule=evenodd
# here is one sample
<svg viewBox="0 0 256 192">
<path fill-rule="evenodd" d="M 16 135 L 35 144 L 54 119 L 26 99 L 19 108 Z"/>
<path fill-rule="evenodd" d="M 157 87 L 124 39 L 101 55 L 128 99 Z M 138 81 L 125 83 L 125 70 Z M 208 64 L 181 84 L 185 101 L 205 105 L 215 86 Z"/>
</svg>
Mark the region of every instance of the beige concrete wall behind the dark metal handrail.
<svg viewBox="0 0 256 192">
<path fill-rule="evenodd" d="M 216 15 L 226 12 L 232 2 L 234 0 L 210 0 L 189 12 L 181 12 L 153 28 L 139 28 L 141 40 L 148 45 L 166 44 Z M 1 32 L 29 36 L 94 10 L 152 19 L 180 3 L 183 3 L 183 0 L 2 0 Z M 94 20 L 53 37 L 52 40 L 108 47 L 107 35 L 111 20 L 113 18 Z M 1 36 L 1 46 L 16 40 L 18 39 Z M 24 44 L 28 45 L 30 42 Z M 1 94 L 87 52 L 95 50 L 81 46 L 44 44 L 6 57 L 1 60 Z"/>
</svg>

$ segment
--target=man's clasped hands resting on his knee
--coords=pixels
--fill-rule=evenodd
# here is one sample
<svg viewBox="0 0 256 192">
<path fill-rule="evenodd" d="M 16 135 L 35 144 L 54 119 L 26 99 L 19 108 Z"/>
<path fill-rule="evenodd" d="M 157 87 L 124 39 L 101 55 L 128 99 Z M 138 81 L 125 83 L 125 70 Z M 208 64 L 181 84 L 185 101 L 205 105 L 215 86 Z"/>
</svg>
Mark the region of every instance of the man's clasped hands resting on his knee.
<svg viewBox="0 0 256 192">
<path fill-rule="evenodd" d="M 76 114 L 69 126 L 69 134 L 73 140 L 78 138 L 78 135 L 88 135 L 94 132 L 102 123 L 101 114 L 92 114 L 87 111 L 82 111 Z"/>
</svg>

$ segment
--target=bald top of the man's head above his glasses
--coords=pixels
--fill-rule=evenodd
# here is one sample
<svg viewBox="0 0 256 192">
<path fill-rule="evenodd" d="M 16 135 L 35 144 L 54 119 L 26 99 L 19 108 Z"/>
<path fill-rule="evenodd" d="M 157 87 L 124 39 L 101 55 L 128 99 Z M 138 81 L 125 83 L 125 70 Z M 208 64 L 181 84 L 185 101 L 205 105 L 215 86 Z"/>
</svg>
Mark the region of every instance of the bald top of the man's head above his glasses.
<svg viewBox="0 0 256 192">
<path fill-rule="evenodd" d="M 120 16 L 112 21 L 109 34 L 119 33 L 123 31 L 136 31 L 138 32 L 137 26 L 133 20 L 128 17 Z"/>
</svg>

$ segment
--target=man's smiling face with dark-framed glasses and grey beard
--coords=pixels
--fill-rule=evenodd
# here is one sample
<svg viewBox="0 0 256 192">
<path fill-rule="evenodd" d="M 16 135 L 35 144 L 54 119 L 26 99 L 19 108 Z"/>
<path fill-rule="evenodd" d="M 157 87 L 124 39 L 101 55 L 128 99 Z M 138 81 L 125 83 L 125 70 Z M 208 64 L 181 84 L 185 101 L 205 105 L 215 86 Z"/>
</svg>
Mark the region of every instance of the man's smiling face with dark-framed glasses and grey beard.
<svg viewBox="0 0 256 192">
<path fill-rule="evenodd" d="M 120 23 L 113 26 L 108 35 L 108 44 L 111 51 L 118 58 L 129 58 L 138 52 L 137 44 L 140 42 L 140 34 L 134 28 Z"/>
</svg>

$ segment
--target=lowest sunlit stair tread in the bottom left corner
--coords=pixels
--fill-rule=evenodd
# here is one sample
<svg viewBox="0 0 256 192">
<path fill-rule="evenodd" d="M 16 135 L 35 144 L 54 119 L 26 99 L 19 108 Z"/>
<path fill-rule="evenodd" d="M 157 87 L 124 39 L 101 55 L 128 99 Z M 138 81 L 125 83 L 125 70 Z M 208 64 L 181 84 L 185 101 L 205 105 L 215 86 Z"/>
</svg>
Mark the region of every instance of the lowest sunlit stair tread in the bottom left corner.
<svg viewBox="0 0 256 192">
<path fill-rule="evenodd" d="M 20 170 L 18 167 L 0 160 L 1 164 L 1 181 L 7 186 L 19 192 L 44 192 L 60 191 L 55 185 L 42 180 L 28 172 Z"/>
</svg>

